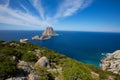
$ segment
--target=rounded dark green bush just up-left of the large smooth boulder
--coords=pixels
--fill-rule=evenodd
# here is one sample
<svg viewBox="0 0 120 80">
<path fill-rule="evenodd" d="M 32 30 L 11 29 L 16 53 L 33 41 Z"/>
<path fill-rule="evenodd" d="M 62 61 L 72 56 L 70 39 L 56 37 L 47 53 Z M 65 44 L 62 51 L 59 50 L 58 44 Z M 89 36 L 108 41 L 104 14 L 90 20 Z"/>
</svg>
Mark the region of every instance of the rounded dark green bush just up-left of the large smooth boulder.
<svg viewBox="0 0 120 80">
<path fill-rule="evenodd" d="M 36 62 L 38 57 L 32 52 L 28 52 L 23 54 L 22 59 L 28 62 Z"/>
</svg>

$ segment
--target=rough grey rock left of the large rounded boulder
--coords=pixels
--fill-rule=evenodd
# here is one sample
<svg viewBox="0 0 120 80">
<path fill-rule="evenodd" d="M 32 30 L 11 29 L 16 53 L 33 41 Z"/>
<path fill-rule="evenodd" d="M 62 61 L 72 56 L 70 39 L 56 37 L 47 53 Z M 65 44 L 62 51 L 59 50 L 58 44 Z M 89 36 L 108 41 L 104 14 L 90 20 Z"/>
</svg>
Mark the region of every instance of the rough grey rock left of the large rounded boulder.
<svg viewBox="0 0 120 80">
<path fill-rule="evenodd" d="M 30 65 L 25 61 L 20 61 L 17 66 L 28 74 L 34 72 L 32 67 L 30 67 Z"/>
</svg>

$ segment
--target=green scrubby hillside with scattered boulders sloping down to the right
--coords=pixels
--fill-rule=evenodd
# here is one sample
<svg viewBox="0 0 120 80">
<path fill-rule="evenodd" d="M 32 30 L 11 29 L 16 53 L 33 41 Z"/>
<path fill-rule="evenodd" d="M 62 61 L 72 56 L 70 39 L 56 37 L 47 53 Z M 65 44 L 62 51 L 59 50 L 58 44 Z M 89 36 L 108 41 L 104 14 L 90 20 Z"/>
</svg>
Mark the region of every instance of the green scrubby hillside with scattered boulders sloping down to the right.
<svg viewBox="0 0 120 80">
<path fill-rule="evenodd" d="M 120 76 L 32 43 L 0 41 L 0 80 L 119 80 Z"/>
</svg>

